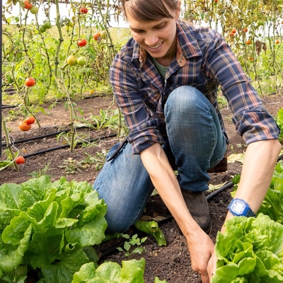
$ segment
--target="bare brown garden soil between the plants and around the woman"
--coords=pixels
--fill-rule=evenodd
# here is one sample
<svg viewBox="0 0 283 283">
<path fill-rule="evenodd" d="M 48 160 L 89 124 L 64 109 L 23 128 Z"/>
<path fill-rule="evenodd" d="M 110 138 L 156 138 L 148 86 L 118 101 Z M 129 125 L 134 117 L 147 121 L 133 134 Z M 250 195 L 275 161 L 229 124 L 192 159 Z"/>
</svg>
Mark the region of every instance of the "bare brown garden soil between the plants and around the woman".
<svg viewBox="0 0 283 283">
<path fill-rule="evenodd" d="M 81 113 L 81 116 L 89 120 L 91 115 L 99 115 L 100 109 L 107 110 L 112 103 L 112 97 L 93 97 L 78 100 L 75 103 L 76 109 L 80 109 L 78 112 Z M 278 110 L 283 107 L 283 98 L 282 96 L 270 95 L 262 98 L 262 103 L 276 117 Z M 52 104 L 42 105 L 45 114 L 42 112 L 36 114 L 37 119 L 40 121 L 40 127 L 35 123 L 28 132 L 21 132 L 18 129 L 18 123 L 22 120 L 20 115 L 14 116 L 14 120 L 7 122 L 14 146 L 20 151 L 20 155 L 29 157 L 25 158 L 24 164 L 18 166 L 18 172 L 13 167 L 0 171 L 0 185 L 3 183 L 20 184 L 44 173 L 50 175 L 52 181 L 64 176 L 70 181 L 87 181 L 93 184 L 103 163 L 103 152 L 108 151 L 112 145 L 119 141 L 115 136 L 117 132 L 113 129 L 78 129 L 78 136 L 82 139 L 89 136 L 90 139 L 96 141 L 93 141 L 90 146 L 76 146 L 73 152 L 70 152 L 68 147 L 45 152 L 46 149 L 64 146 L 66 140 L 42 136 L 69 129 L 69 112 L 64 108 L 64 102 L 57 102 L 52 108 L 50 108 L 50 105 Z M 110 109 L 115 110 L 116 108 L 117 106 L 114 104 Z M 4 117 L 12 117 L 11 114 L 14 114 L 17 110 L 18 108 L 4 108 Z M 243 139 L 236 133 L 231 122 L 231 111 L 224 108 L 221 110 L 221 115 L 224 117 L 226 131 L 230 139 L 230 144 L 227 147 L 228 156 L 243 154 L 246 151 L 246 146 Z M 111 137 L 109 137 L 110 134 L 112 134 Z M 30 140 L 32 137 L 41 138 Z M 207 138 L 209 137 L 204 137 L 204 139 Z M 26 141 L 22 143 L 16 142 L 21 139 Z M 2 143 L 4 142 L 6 141 L 2 132 Z M 6 147 L 2 146 L 1 160 L 6 159 L 5 150 Z M 40 152 L 42 153 L 40 154 Z M 236 158 L 236 160 L 238 159 Z M 233 175 L 241 173 L 241 166 L 240 161 L 229 163 L 228 170 L 225 173 L 210 174 L 211 180 L 209 184 L 221 187 L 225 183 L 231 183 Z M 227 205 L 231 200 L 232 189 L 232 187 L 228 187 L 209 200 L 213 224 L 209 236 L 214 242 L 216 241 L 217 232 L 224 222 Z M 206 195 L 208 196 L 210 193 L 208 191 Z M 100 263 L 111 260 L 121 264 L 122 260 L 144 258 L 146 260 L 144 282 L 146 283 L 153 283 L 155 277 L 161 280 L 166 279 L 167 282 L 171 283 L 200 283 L 200 276 L 192 271 L 185 238 L 158 195 L 150 198 L 143 217 L 144 219 L 165 219 L 160 222 L 159 226 L 166 237 L 167 245 L 158 246 L 153 236 L 144 235 L 131 228 L 128 231 L 130 236 L 134 235 L 134 233 L 138 233 L 139 238 L 147 236 L 142 245 L 144 251 L 141 254 L 132 253 L 126 257 L 125 253 L 117 250 L 117 246 L 121 246 L 123 243 L 122 238 L 111 240 L 96 247 L 100 256 Z M 28 280 L 28 282 L 36 282 L 36 279 L 33 279 L 32 276 Z"/>
</svg>

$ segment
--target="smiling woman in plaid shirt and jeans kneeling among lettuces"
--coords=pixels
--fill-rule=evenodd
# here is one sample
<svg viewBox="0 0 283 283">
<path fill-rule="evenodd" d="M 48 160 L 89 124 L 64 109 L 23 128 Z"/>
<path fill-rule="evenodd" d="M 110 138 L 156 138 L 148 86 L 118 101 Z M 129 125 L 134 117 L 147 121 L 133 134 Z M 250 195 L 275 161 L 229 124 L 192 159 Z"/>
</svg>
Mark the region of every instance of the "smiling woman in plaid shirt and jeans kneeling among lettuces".
<svg viewBox="0 0 283 283">
<path fill-rule="evenodd" d="M 258 211 L 281 149 L 279 130 L 224 38 L 180 21 L 179 1 L 122 0 L 122 7 L 132 38 L 112 62 L 110 82 L 129 135 L 110 149 L 93 188 L 108 204 L 108 231 L 115 232 L 139 219 L 155 187 L 187 240 L 192 269 L 207 283 L 216 257 L 203 192 L 228 143 L 219 86 L 248 144 L 226 219 L 252 214 L 241 205 Z"/>
</svg>

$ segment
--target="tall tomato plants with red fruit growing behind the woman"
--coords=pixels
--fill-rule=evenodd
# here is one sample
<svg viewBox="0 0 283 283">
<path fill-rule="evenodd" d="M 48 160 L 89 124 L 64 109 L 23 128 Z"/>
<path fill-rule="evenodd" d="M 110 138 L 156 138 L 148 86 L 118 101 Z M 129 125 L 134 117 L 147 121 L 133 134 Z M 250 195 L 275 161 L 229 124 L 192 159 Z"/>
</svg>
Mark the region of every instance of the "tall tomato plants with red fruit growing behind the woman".
<svg viewBox="0 0 283 283">
<path fill-rule="evenodd" d="M 70 1 L 69 17 L 61 16 L 60 1 L 7 0 L 3 8 L 3 83 L 2 96 L 7 104 L 18 105 L 20 129 L 37 113 L 42 103 L 64 100 L 69 110 L 70 151 L 76 146 L 76 122 L 80 111 L 76 99 L 111 93 L 108 70 L 115 54 L 128 40 L 128 29 L 111 28 L 114 18 L 122 20 L 120 2 Z M 282 1 L 182 1 L 183 18 L 197 25 L 219 30 L 231 45 L 262 96 L 282 90 Z M 66 9 L 66 7 L 63 7 Z M 19 10 L 18 13 L 15 11 Z M 38 18 L 39 13 L 43 18 Z M 16 14 L 15 14 L 16 13 Z M 55 18 L 51 15 L 55 14 Z M 16 93 L 8 95 L 14 88 Z M 118 112 L 118 136 L 122 118 Z M 1 115 L 3 129 L 9 117 Z M 10 148 L 11 149 L 11 148 Z M 12 150 L 7 159 L 16 164 Z M 23 160 L 19 161 L 22 162 Z"/>
</svg>

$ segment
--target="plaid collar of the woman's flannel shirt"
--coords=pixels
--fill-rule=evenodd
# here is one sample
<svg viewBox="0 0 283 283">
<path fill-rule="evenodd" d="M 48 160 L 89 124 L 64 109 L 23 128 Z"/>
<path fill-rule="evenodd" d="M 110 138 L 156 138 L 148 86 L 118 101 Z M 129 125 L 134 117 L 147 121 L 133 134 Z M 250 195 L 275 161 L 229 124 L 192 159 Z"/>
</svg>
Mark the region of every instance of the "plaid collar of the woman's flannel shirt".
<svg viewBox="0 0 283 283">
<path fill-rule="evenodd" d="M 177 21 L 177 52 L 176 61 L 180 67 L 185 65 L 188 58 L 197 57 L 202 54 L 200 46 L 194 35 L 190 32 L 192 25 Z M 132 59 L 139 59 L 140 67 L 143 67 L 147 58 L 147 51 L 139 44 L 134 45 Z"/>
</svg>

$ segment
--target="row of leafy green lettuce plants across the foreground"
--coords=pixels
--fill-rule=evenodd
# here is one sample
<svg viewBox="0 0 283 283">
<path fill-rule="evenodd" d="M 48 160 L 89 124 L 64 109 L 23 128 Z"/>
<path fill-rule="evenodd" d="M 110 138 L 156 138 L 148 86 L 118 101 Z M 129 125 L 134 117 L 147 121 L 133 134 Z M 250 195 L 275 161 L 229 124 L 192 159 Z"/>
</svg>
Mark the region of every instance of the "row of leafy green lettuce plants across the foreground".
<svg viewBox="0 0 283 283">
<path fill-rule="evenodd" d="M 239 178 L 234 178 L 235 187 Z M 270 189 L 256 218 L 233 217 L 216 238 L 216 275 L 212 283 L 282 282 L 283 163 L 275 168 Z M 105 235 L 107 206 L 87 182 L 52 183 L 47 175 L 21 185 L 0 186 L 0 279 L 25 282 L 36 271 L 37 282 L 144 282 L 145 260 L 98 264 L 96 246 L 105 237 L 124 236 L 126 256 L 142 253 L 146 241 L 122 234 Z M 166 239 L 155 221 L 137 228 Z M 134 246 L 137 246 L 134 248 Z M 134 248 L 134 250 L 130 250 Z M 154 282 L 161 282 L 157 277 Z M 166 280 L 162 281 L 166 282 Z"/>
</svg>

